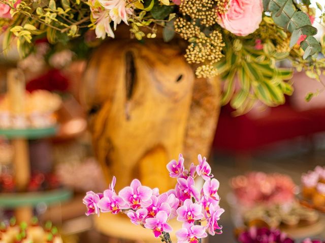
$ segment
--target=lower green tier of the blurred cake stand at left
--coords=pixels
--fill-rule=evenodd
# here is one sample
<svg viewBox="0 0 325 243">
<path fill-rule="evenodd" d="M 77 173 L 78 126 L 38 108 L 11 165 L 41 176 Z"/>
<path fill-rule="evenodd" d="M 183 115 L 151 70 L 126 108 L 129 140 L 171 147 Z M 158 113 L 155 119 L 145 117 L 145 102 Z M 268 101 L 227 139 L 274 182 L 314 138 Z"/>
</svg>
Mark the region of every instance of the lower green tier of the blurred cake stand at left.
<svg viewBox="0 0 325 243">
<path fill-rule="evenodd" d="M 40 203 L 54 205 L 72 197 L 69 189 L 55 189 L 39 192 L 0 193 L 0 207 L 16 209 L 19 207 L 36 207 Z"/>
</svg>

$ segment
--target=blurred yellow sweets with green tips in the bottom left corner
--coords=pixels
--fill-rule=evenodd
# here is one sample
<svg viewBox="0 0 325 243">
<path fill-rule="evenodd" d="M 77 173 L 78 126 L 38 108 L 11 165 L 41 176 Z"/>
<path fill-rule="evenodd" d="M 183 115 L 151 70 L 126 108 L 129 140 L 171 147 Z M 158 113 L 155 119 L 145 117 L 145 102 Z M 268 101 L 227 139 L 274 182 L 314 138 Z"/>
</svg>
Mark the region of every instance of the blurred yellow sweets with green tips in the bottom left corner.
<svg viewBox="0 0 325 243">
<path fill-rule="evenodd" d="M 14 224 L 14 225 L 13 225 Z M 62 243 L 57 228 L 47 223 L 42 228 L 38 220 L 33 218 L 30 225 L 22 222 L 20 226 L 15 224 L 15 219 L 10 220 L 10 225 L 2 223 L 0 226 L 0 243 Z"/>
</svg>

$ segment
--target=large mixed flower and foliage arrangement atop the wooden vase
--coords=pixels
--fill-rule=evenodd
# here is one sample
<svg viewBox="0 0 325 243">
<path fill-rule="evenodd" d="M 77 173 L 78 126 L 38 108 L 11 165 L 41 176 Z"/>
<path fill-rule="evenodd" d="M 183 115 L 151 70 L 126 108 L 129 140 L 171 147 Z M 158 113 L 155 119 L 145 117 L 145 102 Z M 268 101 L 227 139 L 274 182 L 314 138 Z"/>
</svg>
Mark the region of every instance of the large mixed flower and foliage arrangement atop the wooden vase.
<svg viewBox="0 0 325 243">
<path fill-rule="evenodd" d="M 115 37 L 127 25 L 131 37 L 155 38 L 163 28 L 166 42 L 175 33 L 188 42 L 185 58 L 198 77 L 219 75 L 224 80 L 222 104 L 238 113 L 256 100 L 275 106 L 291 95 L 293 70 L 279 68 L 288 59 L 298 71 L 320 81 L 325 66 L 325 38 L 314 37 L 314 21 L 325 13 L 309 0 L 0 0 L 4 50 L 17 39 L 22 56 L 46 38 L 73 48 L 77 39 L 88 46 L 94 37 Z M 316 11 L 319 13 L 316 15 Z M 320 55 L 319 55 L 320 54 Z M 319 57 L 318 57 L 319 56 Z M 309 93 L 309 100 L 314 94 Z"/>
</svg>

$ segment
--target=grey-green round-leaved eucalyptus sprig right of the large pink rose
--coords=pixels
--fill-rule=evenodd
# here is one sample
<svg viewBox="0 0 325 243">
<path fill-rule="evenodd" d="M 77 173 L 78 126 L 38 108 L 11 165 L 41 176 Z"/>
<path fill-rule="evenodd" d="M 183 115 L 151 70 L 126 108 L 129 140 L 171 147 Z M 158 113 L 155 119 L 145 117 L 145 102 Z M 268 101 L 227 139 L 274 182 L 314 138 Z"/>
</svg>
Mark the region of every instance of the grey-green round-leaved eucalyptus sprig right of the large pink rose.
<svg viewBox="0 0 325 243">
<path fill-rule="evenodd" d="M 264 0 L 263 5 L 266 11 L 272 13 L 275 24 L 292 33 L 290 47 L 297 43 L 301 35 L 306 35 L 301 44 L 305 51 L 304 59 L 317 55 L 321 51 L 318 41 L 313 37 L 317 29 L 311 26 L 309 16 L 296 8 L 293 0 Z"/>
</svg>

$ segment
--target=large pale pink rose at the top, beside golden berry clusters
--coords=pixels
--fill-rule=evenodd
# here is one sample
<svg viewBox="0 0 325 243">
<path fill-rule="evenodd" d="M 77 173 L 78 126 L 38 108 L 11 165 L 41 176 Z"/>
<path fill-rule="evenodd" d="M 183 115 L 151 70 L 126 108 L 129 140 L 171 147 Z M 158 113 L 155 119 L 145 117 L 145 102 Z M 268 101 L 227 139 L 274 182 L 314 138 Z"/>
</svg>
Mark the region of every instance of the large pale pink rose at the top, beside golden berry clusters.
<svg viewBox="0 0 325 243">
<path fill-rule="evenodd" d="M 228 11 L 219 14 L 218 24 L 233 34 L 246 36 L 258 29 L 262 13 L 261 0 L 231 0 Z"/>
</svg>

